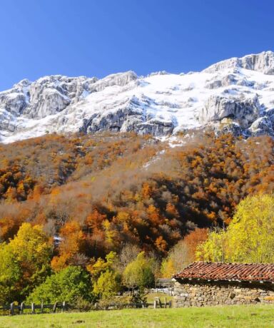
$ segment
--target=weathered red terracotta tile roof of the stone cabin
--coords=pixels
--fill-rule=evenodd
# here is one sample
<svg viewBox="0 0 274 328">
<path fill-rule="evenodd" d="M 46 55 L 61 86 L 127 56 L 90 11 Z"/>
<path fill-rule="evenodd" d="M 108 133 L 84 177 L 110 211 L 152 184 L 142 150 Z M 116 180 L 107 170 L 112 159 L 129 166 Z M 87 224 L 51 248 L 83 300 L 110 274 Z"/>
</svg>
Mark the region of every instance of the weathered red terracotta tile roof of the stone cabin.
<svg viewBox="0 0 274 328">
<path fill-rule="evenodd" d="M 274 282 L 274 264 L 194 262 L 173 278 Z"/>
</svg>

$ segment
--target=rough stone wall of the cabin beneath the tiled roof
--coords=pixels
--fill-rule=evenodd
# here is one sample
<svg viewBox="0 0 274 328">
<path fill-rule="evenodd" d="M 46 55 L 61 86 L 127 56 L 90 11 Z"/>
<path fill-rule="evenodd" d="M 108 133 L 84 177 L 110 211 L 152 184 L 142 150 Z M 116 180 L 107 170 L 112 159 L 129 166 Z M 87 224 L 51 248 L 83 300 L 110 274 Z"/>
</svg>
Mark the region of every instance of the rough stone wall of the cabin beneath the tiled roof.
<svg viewBox="0 0 274 328">
<path fill-rule="evenodd" d="M 219 304 L 274 304 L 274 285 L 241 282 L 176 281 L 175 307 L 204 307 Z"/>
</svg>

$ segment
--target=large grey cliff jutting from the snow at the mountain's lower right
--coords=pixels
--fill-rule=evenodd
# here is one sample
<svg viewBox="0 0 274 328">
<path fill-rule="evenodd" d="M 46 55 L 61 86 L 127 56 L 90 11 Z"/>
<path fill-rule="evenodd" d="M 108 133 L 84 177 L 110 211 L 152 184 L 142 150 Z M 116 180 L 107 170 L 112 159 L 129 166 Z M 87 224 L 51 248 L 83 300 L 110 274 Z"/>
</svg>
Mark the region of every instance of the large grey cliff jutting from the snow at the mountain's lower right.
<svg viewBox="0 0 274 328">
<path fill-rule="evenodd" d="M 201 123 L 220 122 L 224 118 L 240 123 L 243 128 L 248 128 L 260 113 L 258 97 L 254 98 L 225 98 L 210 96 L 205 102 L 200 115 Z"/>
</svg>

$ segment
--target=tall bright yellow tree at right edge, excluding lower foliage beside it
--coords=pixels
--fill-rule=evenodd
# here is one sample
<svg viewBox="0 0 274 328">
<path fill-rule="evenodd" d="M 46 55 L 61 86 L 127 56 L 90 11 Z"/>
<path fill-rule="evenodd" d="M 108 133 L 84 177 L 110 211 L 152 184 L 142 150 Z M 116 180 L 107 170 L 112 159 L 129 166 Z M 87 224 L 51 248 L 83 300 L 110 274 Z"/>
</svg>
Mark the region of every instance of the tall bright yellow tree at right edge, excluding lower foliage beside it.
<svg viewBox="0 0 274 328">
<path fill-rule="evenodd" d="M 245 198 L 228 227 L 233 262 L 274 262 L 274 195 Z"/>
</svg>

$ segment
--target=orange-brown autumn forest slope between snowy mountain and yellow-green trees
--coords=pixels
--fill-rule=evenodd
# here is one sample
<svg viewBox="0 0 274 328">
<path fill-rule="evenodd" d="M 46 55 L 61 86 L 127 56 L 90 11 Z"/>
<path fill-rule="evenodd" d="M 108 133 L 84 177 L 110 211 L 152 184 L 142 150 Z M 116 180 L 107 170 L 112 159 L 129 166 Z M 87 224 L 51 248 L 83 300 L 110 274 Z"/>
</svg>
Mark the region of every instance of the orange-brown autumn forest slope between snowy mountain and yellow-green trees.
<svg viewBox="0 0 274 328">
<path fill-rule="evenodd" d="M 226 225 L 241 199 L 273 190 L 271 138 L 183 140 L 170 147 L 134 134 L 46 135 L 1 145 L 1 240 L 31 222 L 51 236 L 75 227 L 85 244 L 76 253 L 88 257 L 125 242 L 164 255 L 195 225 Z"/>
</svg>

